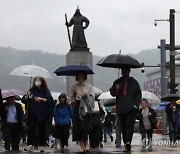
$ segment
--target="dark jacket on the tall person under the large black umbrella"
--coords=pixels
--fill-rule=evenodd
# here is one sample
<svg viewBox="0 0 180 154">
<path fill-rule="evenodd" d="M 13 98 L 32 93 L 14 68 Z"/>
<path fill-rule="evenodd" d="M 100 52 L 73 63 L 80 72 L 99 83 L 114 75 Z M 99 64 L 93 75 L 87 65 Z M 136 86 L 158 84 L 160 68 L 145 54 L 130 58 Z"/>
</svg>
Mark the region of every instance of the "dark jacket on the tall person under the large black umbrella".
<svg viewBox="0 0 180 154">
<path fill-rule="evenodd" d="M 120 77 L 114 81 L 110 88 L 112 96 L 116 96 L 117 114 L 127 113 L 131 111 L 134 105 L 139 106 L 142 98 L 141 89 L 137 80 L 133 77 L 128 77 L 127 95 L 123 95 L 125 78 Z M 120 90 L 117 94 L 116 84 L 120 85 Z"/>
</svg>

